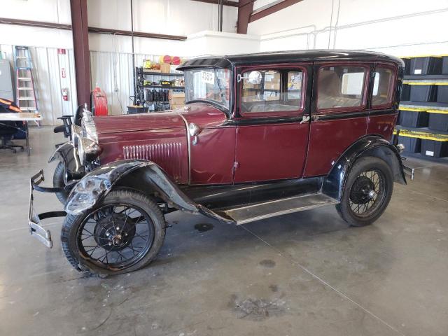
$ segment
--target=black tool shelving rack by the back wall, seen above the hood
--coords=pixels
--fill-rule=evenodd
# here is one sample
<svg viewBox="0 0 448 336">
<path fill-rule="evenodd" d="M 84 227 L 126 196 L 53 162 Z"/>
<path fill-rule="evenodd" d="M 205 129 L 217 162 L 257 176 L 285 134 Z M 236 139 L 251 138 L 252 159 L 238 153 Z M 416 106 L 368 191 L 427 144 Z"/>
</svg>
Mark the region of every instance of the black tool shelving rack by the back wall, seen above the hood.
<svg viewBox="0 0 448 336">
<path fill-rule="evenodd" d="M 160 81 L 164 80 L 169 82 L 172 81 L 173 78 L 183 77 L 183 73 L 158 72 L 150 69 L 144 69 L 143 67 L 136 67 L 135 71 L 137 75 L 135 101 L 138 105 L 147 107 L 149 112 L 165 111 L 171 107 L 169 106 L 168 94 L 159 94 L 158 97 L 165 96 L 165 98 L 155 99 L 155 97 L 152 97 L 155 96 L 155 94 L 149 94 L 150 89 L 159 92 L 163 92 L 164 90 L 176 90 L 183 92 L 185 90 L 184 86 L 145 84 L 145 82 L 160 83 Z"/>
</svg>

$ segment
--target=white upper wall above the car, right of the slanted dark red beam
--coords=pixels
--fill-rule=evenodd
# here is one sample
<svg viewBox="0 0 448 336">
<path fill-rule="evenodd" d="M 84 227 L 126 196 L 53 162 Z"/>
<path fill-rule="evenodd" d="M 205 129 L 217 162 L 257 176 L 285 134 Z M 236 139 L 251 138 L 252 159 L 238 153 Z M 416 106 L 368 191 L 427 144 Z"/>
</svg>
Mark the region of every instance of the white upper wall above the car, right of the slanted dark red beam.
<svg viewBox="0 0 448 336">
<path fill-rule="evenodd" d="M 447 21 L 448 0 L 314 0 L 251 22 L 248 33 L 261 36 L 262 51 L 322 48 L 398 56 L 446 54 Z"/>
</svg>

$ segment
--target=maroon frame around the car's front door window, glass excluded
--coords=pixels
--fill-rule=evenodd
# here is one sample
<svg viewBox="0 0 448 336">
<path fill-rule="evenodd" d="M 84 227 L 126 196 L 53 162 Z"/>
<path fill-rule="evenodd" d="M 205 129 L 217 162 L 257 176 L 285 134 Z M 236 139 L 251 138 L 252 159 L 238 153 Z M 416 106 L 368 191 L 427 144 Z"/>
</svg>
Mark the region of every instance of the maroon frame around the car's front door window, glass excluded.
<svg viewBox="0 0 448 336">
<path fill-rule="evenodd" d="M 262 64 L 260 66 L 241 66 L 238 71 L 238 73 L 243 76 L 244 73 L 248 71 L 253 70 L 273 70 L 273 71 L 281 71 L 281 70 L 287 70 L 287 71 L 302 71 L 302 94 L 300 97 L 300 106 L 298 109 L 295 109 L 293 111 L 270 111 L 270 112 L 243 112 L 241 111 L 241 105 L 242 105 L 242 98 L 243 98 L 243 80 L 239 83 L 239 102 L 238 102 L 238 116 L 242 118 L 260 118 L 260 117 L 298 117 L 302 116 L 304 113 L 304 110 L 306 108 L 305 106 L 305 99 L 306 99 L 306 92 L 307 92 L 307 79 L 308 79 L 308 72 L 307 72 L 307 65 L 304 63 L 290 63 L 290 64 Z M 283 76 L 281 81 L 283 81 Z M 281 83 L 283 85 L 283 83 Z M 286 91 L 287 92 L 287 91 Z M 284 93 L 286 93 L 284 92 Z M 281 92 L 279 92 L 281 93 Z"/>
</svg>

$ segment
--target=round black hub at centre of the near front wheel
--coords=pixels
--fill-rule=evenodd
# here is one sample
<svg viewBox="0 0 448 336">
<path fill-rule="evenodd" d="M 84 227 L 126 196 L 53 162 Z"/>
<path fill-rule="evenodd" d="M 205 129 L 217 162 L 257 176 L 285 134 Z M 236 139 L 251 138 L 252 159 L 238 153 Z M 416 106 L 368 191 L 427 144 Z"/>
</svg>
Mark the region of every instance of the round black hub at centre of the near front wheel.
<svg viewBox="0 0 448 336">
<path fill-rule="evenodd" d="M 108 251 L 120 251 L 128 246 L 135 235 L 134 221 L 125 214 L 108 214 L 97 221 L 94 239 Z"/>
</svg>

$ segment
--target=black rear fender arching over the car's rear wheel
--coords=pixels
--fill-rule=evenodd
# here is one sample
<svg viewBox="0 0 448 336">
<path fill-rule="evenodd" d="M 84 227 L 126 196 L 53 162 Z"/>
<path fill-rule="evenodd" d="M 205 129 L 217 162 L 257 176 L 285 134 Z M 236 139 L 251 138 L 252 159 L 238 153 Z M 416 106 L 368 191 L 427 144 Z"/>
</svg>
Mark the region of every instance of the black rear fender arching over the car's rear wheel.
<svg viewBox="0 0 448 336">
<path fill-rule="evenodd" d="M 359 139 L 346 149 L 325 177 L 322 192 L 336 200 L 341 200 L 342 191 L 351 167 L 358 158 L 367 155 L 386 161 L 392 169 L 395 182 L 407 183 L 398 148 L 386 139 L 372 135 Z"/>
</svg>

